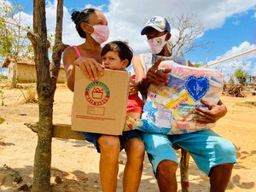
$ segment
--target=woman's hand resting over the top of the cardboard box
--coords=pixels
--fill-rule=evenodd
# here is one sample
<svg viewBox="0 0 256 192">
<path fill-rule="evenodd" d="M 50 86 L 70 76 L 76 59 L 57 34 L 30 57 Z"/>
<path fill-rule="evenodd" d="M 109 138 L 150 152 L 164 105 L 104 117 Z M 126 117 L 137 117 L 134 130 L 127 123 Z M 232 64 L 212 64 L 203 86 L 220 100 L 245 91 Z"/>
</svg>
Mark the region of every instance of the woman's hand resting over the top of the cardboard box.
<svg viewBox="0 0 256 192">
<path fill-rule="evenodd" d="M 100 75 L 103 75 L 104 67 L 93 58 L 81 56 L 74 61 L 74 64 L 79 66 L 84 75 L 92 81 L 98 80 Z"/>
</svg>

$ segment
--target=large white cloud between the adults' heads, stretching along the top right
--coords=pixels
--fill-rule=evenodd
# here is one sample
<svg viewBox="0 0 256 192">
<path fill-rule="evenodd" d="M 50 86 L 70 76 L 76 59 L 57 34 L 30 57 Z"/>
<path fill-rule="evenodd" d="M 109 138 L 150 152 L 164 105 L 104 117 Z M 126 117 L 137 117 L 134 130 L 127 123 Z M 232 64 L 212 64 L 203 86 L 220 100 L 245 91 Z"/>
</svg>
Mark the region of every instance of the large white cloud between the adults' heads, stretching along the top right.
<svg viewBox="0 0 256 192">
<path fill-rule="evenodd" d="M 142 53 L 148 51 L 148 44 L 140 32 L 153 15 L 170 18 L 193 14 L 206 29 L 210 29 L 221 27 L 228 17 L 246 12 L 255 5 L 256 0 L 247 3 L 240 0 L 110 0 L 106 13 L 111 32 L 109 40 L 129 39 L 135 53 Z"/>
</svg>

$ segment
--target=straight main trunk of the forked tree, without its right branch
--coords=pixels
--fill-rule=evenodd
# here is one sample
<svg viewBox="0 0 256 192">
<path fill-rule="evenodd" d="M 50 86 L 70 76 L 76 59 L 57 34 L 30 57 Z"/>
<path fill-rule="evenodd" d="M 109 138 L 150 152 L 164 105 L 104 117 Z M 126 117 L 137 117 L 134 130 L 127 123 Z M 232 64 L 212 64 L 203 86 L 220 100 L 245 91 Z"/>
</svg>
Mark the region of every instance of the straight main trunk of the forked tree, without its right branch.
<svg viewBox="0 0 256 192">
<path fill-rule="evenodd" d="M 32 39 L 37 71 L 38 91 L 38 146 L 36 148 L 33 172 L 33 192 L 50 191 L 50 162 L 52 135 L 53 90 L 49 75 L 45 1 L 33 1 Z"/>
</svg>

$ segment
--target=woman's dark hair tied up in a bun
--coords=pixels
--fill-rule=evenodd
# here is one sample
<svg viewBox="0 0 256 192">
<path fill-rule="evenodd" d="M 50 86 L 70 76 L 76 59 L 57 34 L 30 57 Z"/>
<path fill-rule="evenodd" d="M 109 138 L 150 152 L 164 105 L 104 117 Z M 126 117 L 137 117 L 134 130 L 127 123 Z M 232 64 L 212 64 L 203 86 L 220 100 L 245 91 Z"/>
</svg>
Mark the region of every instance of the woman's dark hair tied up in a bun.
<svg viewBox="0 0 256 192">
<path fill-rule="evenodd" d="M 85 32 L 83 31 L 82 27 L 80 26 L 81 22 L 89 23 L 90 15 L 94 14 L 98 9 L 84 9 L 82 11 L 77 11 L 73 9 L 71 14 L 71 19 L 76 24 L 76 29 L 79 32 L 79 36 L 81 38 L 86 38 Z"/>
</svg>

